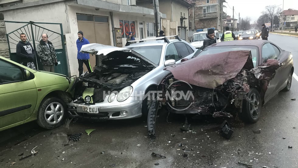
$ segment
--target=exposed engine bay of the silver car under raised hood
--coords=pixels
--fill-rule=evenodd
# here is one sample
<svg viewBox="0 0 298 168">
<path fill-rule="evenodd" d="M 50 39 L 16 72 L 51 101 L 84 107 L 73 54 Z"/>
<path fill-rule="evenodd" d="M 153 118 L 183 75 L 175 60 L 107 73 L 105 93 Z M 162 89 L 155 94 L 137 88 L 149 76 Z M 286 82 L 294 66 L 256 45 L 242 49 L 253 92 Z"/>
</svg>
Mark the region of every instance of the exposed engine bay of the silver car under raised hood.
<svg viewBox="0 0 298 168">
<path fill-rule="evenodd" d="M 97 66 L 94 72 L 78 78 L 75 84 L 75 99 L 78 99 L 79 103 L 86 103 L 84 97 L 90 95 L 92 97 L 90 103 L 103 102 L 106 95 L 109 95 L 112 91 L 120 91 L 148 72 L 150 70 L 144 67 L 118 66 L 105 68 Z"/>
</svg>

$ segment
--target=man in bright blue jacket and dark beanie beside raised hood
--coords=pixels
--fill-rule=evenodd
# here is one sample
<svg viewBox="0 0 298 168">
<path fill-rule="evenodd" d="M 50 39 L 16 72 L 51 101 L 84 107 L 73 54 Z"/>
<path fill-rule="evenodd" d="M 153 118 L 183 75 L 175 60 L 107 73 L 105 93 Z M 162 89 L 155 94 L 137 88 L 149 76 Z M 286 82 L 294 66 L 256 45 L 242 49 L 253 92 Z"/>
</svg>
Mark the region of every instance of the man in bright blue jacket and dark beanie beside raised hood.
<svg viewBox="0 0 298 168">
<path fill-rule="evenodd" d="M 78 64 L 79 64 L 79 76 L 83 73 L 83 63 L 87 66 L 88 72 L 92 73 L 92 68 L 89 62 L 89 54 L 80 52 L 82 45 L 90 44 L 89 41 L 83 37 L 83 32 L 80 30 L 78 32 L 77 48 L 78 48 Z"/>
</svg>

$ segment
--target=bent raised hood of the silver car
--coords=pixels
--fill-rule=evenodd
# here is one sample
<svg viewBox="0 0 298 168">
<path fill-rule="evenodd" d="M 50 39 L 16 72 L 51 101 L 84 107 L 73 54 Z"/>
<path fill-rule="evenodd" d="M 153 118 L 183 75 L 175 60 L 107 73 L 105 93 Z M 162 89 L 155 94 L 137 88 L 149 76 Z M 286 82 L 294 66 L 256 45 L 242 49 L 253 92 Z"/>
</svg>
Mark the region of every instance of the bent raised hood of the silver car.
<svg viewBox="0 0 298 168">
<path fill-rule="evenodd" d="M 95 54 L 97 60 L 96 65 L 99 65 L 98 61 L 101 60 L 101 63 L 106 66 L 117 66 L 124 64 L 145 64 L 146 66 L 158 66 L 149 59 L 129 48 L 120 48 L 92 43 L 83 45 L 80 52 Z"/>
</svg>

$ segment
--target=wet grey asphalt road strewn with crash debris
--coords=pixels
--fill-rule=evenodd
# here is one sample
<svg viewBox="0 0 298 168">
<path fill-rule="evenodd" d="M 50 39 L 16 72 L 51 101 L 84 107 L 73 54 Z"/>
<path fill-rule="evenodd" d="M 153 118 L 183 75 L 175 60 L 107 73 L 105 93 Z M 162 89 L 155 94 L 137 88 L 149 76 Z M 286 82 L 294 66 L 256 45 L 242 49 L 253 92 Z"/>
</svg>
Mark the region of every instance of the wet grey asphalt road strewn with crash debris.
<svg viewBox="0 0 298 168">
<path fill-rule="evenodd" d="M 298 38 L 270 34 L 269 40 L 291 51 L 294 64 L 298 63 Z M 168 116 L 165 110 L 160 110 L 155 140 L 147 138 L 147 123 L 139 119 L 67 122 L 54 130 L 43 130 L 31 122 L 0 132 L 0 167 L 244 167 L 238 162 L 252 167 L 298 167 L 297 84 L 293 78 L 289 92 L 280 92 L 265 104 L 257 123 L 229 120 L 234 134 L 228 140 L 219 134 L 222 118 L 191 120 L 192 131 L 182 132 L 184 118 Z M 86 129 L 95 131 L 88 136 Z M 253 132 L 256 130 L 260 133 Z M 64 146 L 67 134 L 80 132 L 79 141 Z M 178 146 L 180 143 L 184 146 Z M 19 161 L 35 146 L 36 155 Z M 151 156 L 152 152 L 166 158 Z"/>
</svg>

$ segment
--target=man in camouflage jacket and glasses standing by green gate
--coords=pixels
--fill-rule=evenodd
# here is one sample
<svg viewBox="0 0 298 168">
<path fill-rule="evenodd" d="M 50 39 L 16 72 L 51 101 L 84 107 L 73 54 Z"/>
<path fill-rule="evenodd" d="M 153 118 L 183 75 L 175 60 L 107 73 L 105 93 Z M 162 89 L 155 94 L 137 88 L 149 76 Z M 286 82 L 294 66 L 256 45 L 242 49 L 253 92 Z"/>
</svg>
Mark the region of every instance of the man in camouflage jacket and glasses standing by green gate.
<svg viewBox="0 0 298 168">
<path fill-rule="evenodd" d="M 40 57 L 43 65 L 43 70 L 48 72 L 55 72 L 54 65 L 58 65 L 55 48 L 52 42 L 48 41 L 48 35 L 42 34 L 39 45 L 37 45 L 36 52 Z"/>
</svg>

